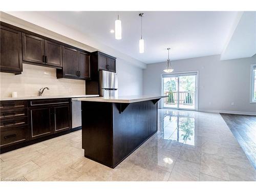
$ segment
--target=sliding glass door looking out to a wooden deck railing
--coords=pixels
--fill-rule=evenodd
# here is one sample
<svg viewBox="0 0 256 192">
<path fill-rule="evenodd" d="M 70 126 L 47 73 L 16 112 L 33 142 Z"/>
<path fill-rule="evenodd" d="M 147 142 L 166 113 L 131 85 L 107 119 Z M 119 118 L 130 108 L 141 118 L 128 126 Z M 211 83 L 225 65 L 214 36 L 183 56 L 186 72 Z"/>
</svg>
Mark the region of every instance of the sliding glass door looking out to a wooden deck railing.
<svg viewBox="0 0 256 192">
<path fill-rule="evenodd" d="M 197 72 L 162 75 L 163 108 L 197 110 Z"/>
</svg>

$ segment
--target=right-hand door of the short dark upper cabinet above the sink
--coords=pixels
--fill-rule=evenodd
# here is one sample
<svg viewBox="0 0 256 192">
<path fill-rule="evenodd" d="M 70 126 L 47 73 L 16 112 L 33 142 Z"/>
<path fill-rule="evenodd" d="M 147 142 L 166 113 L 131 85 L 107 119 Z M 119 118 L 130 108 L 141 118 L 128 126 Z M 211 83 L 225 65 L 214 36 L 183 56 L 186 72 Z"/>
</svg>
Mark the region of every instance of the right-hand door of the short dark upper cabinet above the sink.
<svg viewBox="0 0 256 192">
<path fill-rule="evenodd" d="M 50 66 L 62 67 L 62 47 L 55 42 L 45 40 L 46 64 Z"/>
</svg>

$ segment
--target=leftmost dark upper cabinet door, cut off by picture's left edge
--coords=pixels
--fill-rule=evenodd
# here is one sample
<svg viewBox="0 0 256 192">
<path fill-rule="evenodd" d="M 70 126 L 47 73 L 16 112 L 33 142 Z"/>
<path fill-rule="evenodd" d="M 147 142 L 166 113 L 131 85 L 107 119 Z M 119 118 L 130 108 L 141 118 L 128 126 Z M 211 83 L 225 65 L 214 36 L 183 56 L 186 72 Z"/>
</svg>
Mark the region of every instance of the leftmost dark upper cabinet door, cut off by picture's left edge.
<svg viewBox="0 0 256 192">
<path fill-rule="evenodd" d="M 22 72 L 22 33 L 4 26 L 0 27 L 0 71 L 20 74 Z"/>
</svg>

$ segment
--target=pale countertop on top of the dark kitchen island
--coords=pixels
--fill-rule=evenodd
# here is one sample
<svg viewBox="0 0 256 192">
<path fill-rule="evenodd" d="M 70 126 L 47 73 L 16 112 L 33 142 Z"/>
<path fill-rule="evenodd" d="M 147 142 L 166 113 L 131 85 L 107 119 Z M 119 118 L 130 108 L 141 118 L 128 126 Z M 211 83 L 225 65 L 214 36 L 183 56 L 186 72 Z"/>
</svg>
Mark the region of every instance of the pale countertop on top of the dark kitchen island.
<svg viewBox="0 0 256 192">
<path fill-rule="evenodd" d="M 155 96 L 148 96 L 148 95 L 131 95 L 131 96 L 118 96 L 118 97 L 90 97 L 90 98 L 77 98 L 80 101 L 95 101 L 95 102 L 114 102 L 114 103 L 133 103 L 133 102 L 140 102 L 140 101 L 147 101 L 153 99 L 160 99 L 168 97 L 167 95 L 155 95 Z"/>
</svg>

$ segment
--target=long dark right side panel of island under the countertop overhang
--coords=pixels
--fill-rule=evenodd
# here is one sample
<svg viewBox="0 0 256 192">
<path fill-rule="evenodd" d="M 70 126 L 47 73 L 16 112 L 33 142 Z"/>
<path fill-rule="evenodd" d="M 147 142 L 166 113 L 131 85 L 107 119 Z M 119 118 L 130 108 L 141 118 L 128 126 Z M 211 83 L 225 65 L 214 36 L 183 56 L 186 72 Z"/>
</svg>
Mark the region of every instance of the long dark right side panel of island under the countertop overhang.
<svg viewBox="0 0 256 192">
<path fill-rule="evenodd" d="M 119 109 L 120 103 L 114 103 L 114 166 L 157 132 L 157 103 L 130 103 L 121 114 Z"/>
</svg>

